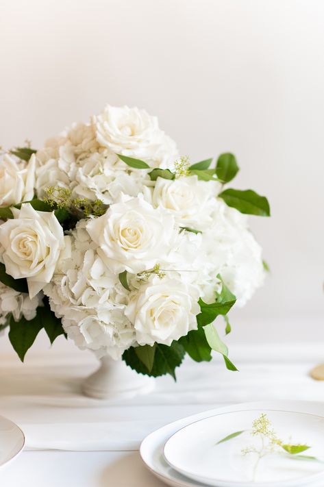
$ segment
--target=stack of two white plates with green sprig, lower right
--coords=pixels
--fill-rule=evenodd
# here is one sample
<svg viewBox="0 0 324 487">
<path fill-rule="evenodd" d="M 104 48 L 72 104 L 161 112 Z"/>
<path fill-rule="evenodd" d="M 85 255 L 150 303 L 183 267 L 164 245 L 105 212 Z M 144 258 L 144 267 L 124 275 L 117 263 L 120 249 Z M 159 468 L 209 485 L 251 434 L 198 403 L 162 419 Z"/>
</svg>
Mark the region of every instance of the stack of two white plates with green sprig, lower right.
<svg viewBox="0 0 324 487">
<path fill-rule="evenodd" d="M 323 487 L 324 403 L 269 401 L 197 414 L 151 433 L 140 455 L 173 487 Z"/>
</svg>

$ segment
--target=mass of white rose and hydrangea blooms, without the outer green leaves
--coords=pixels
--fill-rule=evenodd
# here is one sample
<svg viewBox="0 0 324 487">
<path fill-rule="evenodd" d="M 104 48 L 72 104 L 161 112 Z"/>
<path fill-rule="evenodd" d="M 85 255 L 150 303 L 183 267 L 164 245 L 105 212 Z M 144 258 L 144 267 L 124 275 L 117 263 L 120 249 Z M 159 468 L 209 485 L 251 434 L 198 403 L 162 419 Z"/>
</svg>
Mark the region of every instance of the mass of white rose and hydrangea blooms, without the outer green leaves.
<svg viewBox="0 0 324 487">
<path fill-rule="evenodd" d="M 77 346 L 117 359 L 132 345 L 171 345 L 197 329 L 199 297 L 215 301 L 217 275 L 241 305 L 262 284 L 260 246 L 247 218 L 217 197 L 219 182 L 186 171 L 154 181 L 119 155 L 175 171 L 178 151 L 157 118 L 108 105 L 28 163 L 6 156 L 0 206 L 60 187 L 107 210 L 64 235 L 53 212 L 12 209 L 0 225 L 0 260 L 27 279 L 29 298 L 1 285 L 0 323 L 10 312 L 31 319 L 44 291 Z"/>
</svg>

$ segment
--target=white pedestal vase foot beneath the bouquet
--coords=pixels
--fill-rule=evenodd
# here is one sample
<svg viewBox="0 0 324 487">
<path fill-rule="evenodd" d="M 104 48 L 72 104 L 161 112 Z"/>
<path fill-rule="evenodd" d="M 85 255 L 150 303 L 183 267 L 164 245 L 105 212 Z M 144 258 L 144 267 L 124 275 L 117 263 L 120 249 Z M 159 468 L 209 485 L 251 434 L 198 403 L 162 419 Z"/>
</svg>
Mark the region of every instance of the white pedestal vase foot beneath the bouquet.
<svg viewBox="0 0 324 487">
<path fill-rule="evenodd" d="M 100 359 L 99 369 L 82 386 L 86 396 L 96 399 L 129 399 L 153 390 L 155 379 L 133 371 L 123 360 Z"/>
</svg>

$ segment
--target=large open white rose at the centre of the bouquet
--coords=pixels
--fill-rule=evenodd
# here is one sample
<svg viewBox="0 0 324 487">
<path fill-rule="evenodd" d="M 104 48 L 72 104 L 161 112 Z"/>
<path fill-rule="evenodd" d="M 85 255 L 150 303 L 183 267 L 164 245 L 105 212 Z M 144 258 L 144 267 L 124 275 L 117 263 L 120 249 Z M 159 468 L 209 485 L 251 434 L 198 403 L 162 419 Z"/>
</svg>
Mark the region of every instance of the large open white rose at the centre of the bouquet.
<svg viewBox="0 0 324 487">
<path fill-rule="evenodd" d="M 87 225 L 98 253 L 115 273 L 138 273 L 164 260 L 176 237 L 174 219 L 141 197 L 115 203 Z"/>
</svg>

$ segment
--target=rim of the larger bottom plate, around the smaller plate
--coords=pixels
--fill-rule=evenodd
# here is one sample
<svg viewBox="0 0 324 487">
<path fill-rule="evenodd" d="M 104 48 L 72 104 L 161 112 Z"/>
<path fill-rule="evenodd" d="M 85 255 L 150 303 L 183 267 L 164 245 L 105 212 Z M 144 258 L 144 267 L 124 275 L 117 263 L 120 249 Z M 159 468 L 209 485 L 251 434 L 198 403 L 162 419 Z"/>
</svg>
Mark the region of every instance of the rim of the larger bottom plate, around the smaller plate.
<svg viewBox="0 0 324 487">
<path fill-rule="evenodd" d="M 217 411 L 234 411 L 238 410 L 239 408 L 269 408 L 269 407 L 276 407 L 276 408 L 299 408 L 299 412 L 309 412 L 310 410 L 316 410 L 316 414 L 319 416 L 324 417 L 324 408 L 322 401 L 307 401 L 307 400 L 297 400 L 297 399 L 264 399 L 262 401 L 245 401 L 245 402 L 237 402 L 237 403 L 227 403 L 227 404 L 219 404 L 216 408 L 208 409 L 205 411 L 196 412 L 194 414 L 189 414 L 188 416 L 179 418 L 175 421 L 171 421 L 170 423 L 166 423 L 157 429 L 154 429 L 153 432 L 147 434 L 145 438 L 143 438 L 142 442 L 140 443 L 140 458 L 145 464 L 145 467 L 148 471 L 152 473 L 155 477 L 162 480 L 162 482 L 179 487 L 201 487 L 200 483 L 194 482 L 191 479 L 175 479 L 170 473 L 163 470 L 155 464 L 153 460 L 153 453 L 150 455 L 149 450 L 147 450 L 147 446 L 150 443 L 155 445 L 155 450 L 162 453 L 162 447 L 164 442 L 169 438 L 168 434 L 171 431 L 177 431 L 177 427 L 179 425 L 189 425 L 190 421 L 194 421 L 195 419 L 203 419 L 212 416 Z M 322 414 L 323 409 L 323 414 Z M 319 413 L 320 411 L 320 413 Z M 179 428 L 178 428 L 179 429 Z M 162 438 L 161 438 L 162 436 Z M 154 450 L 154 452 L 155 452 Z M 148 453 L 148 454 L 147 454 Z M 190 482 L 190 484 L 188 484 Z M 319 487 L 319 486 L 316 486 Z"/>
</svg>

